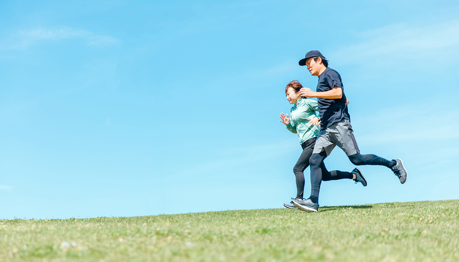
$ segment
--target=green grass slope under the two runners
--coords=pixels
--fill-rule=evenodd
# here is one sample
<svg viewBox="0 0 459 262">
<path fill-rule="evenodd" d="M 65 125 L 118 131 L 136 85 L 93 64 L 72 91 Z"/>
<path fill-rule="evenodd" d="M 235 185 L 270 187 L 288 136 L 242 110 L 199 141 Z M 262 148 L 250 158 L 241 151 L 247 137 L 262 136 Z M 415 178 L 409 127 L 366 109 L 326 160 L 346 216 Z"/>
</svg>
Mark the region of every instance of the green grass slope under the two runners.
<svg viewBox="0 0 459 262">
<path fill-rule="evenodd" d="M 0 261 L 459 261 L 459 200 L 0 220 Z"/>
</svg>

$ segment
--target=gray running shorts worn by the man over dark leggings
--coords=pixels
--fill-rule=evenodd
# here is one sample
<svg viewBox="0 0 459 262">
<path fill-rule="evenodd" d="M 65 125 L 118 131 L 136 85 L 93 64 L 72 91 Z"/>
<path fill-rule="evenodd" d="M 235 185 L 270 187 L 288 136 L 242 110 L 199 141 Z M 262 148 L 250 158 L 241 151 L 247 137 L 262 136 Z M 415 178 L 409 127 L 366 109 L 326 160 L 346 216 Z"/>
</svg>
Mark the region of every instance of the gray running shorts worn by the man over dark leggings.
<svg viewBox="0 0 459 262">
<path fill-rule="evenodd" d="M 351 122 L 347 119 L 335 122 L 325 130 L 321 130 L 317 136 L 313 153 L 325 151 L 328 156 L 335 146 L 340 147 L 347 156 L 360 153 Z"/>
</svg>

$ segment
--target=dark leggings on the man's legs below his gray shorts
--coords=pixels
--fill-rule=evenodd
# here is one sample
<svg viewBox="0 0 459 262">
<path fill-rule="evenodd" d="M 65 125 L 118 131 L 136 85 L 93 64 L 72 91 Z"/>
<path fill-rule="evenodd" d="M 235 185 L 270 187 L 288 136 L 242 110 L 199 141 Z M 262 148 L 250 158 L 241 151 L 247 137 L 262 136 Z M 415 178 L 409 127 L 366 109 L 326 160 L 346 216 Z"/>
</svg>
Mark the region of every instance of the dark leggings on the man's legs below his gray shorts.
<svg viewBox="0 0 459 262">
<path fill-rule="evenodd" d="M 311 158 L 309 158 L 309 164 L 311 165 L 311 200 L 316 200 L 314 202 L 316 204 L 319 203 L 319 191 L 320 191 L 320 183 L 322 182 L 322 177 L 324 176 L 323 169 L 324 166 L 324 159 L 327 157 L 327 153 L 322 151 L 321 153 L 313 153 Z M 388 168 L 392 168 L 394 166 L 393 161 L 389 161 L 387 159 L 378 157 L 377 155 L 373 154 L 366 154 L 362 155 L 359 152 L 350 156 L 347 156 L 349 160 L 351 160 L 352 164 L 355 165 L 382 165 Z M 333 171 L 332 171 L 333 172 Z M 336 171 L 341 172 L 341 171 Z M 328 175 L 327 175 L 328 176 Z"/>
</svg>

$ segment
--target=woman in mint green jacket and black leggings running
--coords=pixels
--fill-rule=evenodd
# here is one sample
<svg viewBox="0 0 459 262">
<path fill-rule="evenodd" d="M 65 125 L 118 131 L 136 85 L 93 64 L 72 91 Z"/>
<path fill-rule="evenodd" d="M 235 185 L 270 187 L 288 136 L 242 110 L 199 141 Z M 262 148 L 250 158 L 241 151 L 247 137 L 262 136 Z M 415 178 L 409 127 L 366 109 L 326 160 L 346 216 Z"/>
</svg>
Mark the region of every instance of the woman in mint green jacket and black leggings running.
<svg viewBox="0 0 459 262">
<path fill-rule="evenodd" d="M 303 171 L 309 166 L 309 158 L 311 157 L 315 145 L 315 140 L 319 135 L 320 118 L 315 112 L 319 111 L 317 101 L 299 96 L 299 91 L 302 85 L 294 80 L 285 87 L 285 95 L 290 104 L 294 104 L 290 109 L 290 117 L 288 114 L 280 113 L 280 122 L 284 123 L 289 131 L 298 134 L 303 152 L 298 158 L 297 164 L 293 167 L 295 180 L 297 182 L 297 199 L 303 199 L 304 190 L 304 174 Z M 347 101 L 349 104 L 349 101 Z M 321 163 L 322 181 L 353 179 L 355 183 L 361 182 L 363 186 L 367 185 L 367 181 L 361 174 L 358 168 L 352 172 L 342 172 L 333 170 L 327 171 L 325 164 Z M 357 169 L 357 170 L 356 170 Z M 311 178 L 313 183 L 313 179 Z M 292 198 L 293 199 L 293 198 Z M 287 208 L 298 209 L 292 202 L 284 203 Z"/>
</svg>

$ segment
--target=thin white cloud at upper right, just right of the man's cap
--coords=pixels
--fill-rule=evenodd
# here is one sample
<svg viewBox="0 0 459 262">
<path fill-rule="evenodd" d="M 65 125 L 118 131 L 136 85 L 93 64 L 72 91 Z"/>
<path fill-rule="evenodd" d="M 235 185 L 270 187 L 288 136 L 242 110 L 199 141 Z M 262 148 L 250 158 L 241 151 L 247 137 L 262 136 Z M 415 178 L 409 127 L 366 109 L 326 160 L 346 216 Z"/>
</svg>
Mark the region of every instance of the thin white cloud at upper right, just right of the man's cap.
<svg viewBox="0 0 459 262">
<path fill-rule="evenodd" d="M 344 46 L 330 57 L 346 63 L 376 58 L 417 58 L 426 55 L 459 55 L 459 20 L 424 27 L 392 24 L 356 34 L 357 44 Z"/>
</svg>

